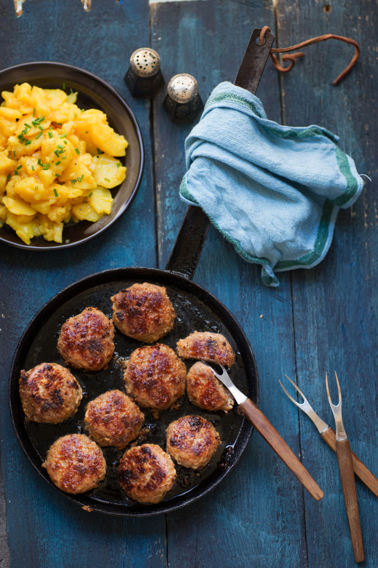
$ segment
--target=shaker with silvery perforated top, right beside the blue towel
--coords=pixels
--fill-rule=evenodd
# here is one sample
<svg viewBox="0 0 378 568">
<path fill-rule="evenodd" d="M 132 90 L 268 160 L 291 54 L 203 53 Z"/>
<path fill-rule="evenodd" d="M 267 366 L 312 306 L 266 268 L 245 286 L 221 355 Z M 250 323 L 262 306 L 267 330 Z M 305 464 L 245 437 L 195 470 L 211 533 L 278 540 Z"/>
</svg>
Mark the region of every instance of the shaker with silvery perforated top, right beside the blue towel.
<svg viewBox="0 0 378 568">
<path fill-rule="evenodd" d="M 163 106 L 172 122 L 193 122 L 203 108 L 197 80 L 188 73 L 173 76 Z"/>
</svg>

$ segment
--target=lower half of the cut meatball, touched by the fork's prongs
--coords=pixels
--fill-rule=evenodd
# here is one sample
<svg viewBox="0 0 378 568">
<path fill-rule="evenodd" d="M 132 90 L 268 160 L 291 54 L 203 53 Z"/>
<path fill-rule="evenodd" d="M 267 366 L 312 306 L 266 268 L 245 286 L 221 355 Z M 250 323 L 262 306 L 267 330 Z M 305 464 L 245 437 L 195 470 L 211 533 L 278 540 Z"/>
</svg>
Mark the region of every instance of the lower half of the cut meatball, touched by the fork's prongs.
<svg viewBox="0 0 378 568">
<path fill-rule="evenodd" d="M 228 412 L 233 407 L 230 392 L 215 377 L 213 371 L 200 361 L 186 375 L 186 394 L 190 402 L 205 410 Z"/>
</svg>

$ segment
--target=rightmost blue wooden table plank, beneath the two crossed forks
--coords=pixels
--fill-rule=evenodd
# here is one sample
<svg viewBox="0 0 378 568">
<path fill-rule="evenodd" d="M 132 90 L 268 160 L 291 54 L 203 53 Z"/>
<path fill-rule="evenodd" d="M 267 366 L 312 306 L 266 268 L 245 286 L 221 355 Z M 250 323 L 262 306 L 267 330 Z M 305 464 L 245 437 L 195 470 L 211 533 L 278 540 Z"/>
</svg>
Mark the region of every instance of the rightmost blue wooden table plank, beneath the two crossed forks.
<svg viewBox="0 0 378 568">
<path fill-rule="evenodd" d="M 337 370 L 351 447 L 377 475 L 377 14 L 367 1 L 346 7 L 339 0 L 329 5 L 279 0 L 277 10 L 281 47 L 332 32 L 358 40 L 361 48 L 358 64 L 338 87 L 330 82 L 349 61 L 352 48 L 329 41 L 305 49 L 305 58 L 282 77 L 282 92 L 286 124 L 329 128 L 340 136 L 339 146 L 351 154 L 359 172 L 373 178 L 356 204 L 339 212 L 325 260 L 315 269 L 294 272 L 292 286 L 299 386 L 333 425 L 324 376 L 326 370 Z M 307 510 L 311 502 L 305 499 L 308 566 L 355 566 L 337 462 L 306 417 L 301 420 L 301 448 L 305 465 L 316 472 L 325 492 L 315 511 Z M 377 566 L 376 497 L 360 482 L 357 494 L 364 566 Z"/>
</svg>

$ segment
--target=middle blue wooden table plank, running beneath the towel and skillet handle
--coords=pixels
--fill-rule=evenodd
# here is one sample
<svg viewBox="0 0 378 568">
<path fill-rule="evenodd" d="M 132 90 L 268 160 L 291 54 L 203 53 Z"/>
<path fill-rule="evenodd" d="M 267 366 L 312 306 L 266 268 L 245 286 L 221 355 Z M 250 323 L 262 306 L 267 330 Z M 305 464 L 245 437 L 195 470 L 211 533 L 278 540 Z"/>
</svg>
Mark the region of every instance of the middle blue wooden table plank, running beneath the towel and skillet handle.
<svg viewBox="0 0 378 568">
<path fill-rule="evenodd" d="M 254 27 L 270 24 L 270 2 L 184 2 L 152 5 L 152 47 L 165 81 L 193 74 L 206 101 L 222 80 L 233 81 Z M 275 70 L 268 64 L 258 89 L 270 118 L 281 116 Z M 164 267 L 186 206 L 178 189 L 185 172 L 184 139 L 190 125 L 172 124 L 164 93 L 154 101 L 155 169 L 159 211 L 159 263 Z M 284 406 L 277 378 L 294 371 L 290 277 L 279 291 L 260 281 L 260 268 L 241 260 L 211 228 L 194 278 L 222 300 L 243 325 L 257 358 L 260 408 L 298 454 L 298 414 Z M 285 403 L 284 403 L 285 404 Z M 313 502 L 313 508 L 318 505 Z M 220 486 L 197 503 L 168 515 L 172 566 L 307 566 L 303 492 L 298 481 L 256 432 Z"/>
</svg>

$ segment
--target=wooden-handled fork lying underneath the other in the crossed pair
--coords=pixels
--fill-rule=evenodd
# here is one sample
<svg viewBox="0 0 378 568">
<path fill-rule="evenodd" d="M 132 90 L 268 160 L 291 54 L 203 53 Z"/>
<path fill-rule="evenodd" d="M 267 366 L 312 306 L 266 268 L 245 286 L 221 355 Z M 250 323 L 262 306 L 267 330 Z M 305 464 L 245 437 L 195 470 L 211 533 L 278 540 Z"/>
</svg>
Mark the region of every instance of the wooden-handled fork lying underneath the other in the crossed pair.
<svg viewBox="0 0 378 568">
<path fill-rule="evenodd" d="M 282 385 L 282 382 L 278 381 L 282 386 L 283 391 L 286 393 L 288 398 L 290 398 L 291 402 L 293 402 L 296 406 L 298 406 L 298 408 L 300 408 L 300 410 L 303 410 L 303 412 L 307 414 L 307 416 L 315 424 L 318 432 L 320 433 L 320 436 L 323 438 L 326 444 L 328 444 L 329 447 L 333 449 L 334 452 L 336 452 L 335 431 L 328 424 L 326 424 L 326 422 L 322 420 L 320 416 L 316 414 L 315 410 L 313 410 L 311 404 L 308 402 L 307 398 L 304 396 L 303 392 L 295 384 L 295 382 L 292 381 L 291 378 L 287 375 L 285 375 L 285 377 L 288 381 L 291 382 L 292 386 L 294 386 L 294 389 L 299 392 L 300 396 L 303 398 L 303 402 L 298 402 L 297 400 L 295 400 Z M 358 475 L 360 480 L 363 481 L 363 483 L 369 488 L 369 490 L 371 490 L 373 494 L 378 497 L 378 479 L 371 473 L 371 471 L 367 469 L 366 465 L 364 465 L 364 463 L 359 460 L 355 453 L 351 452 L 351 454 L 354 473 Z"/>
</svg>

